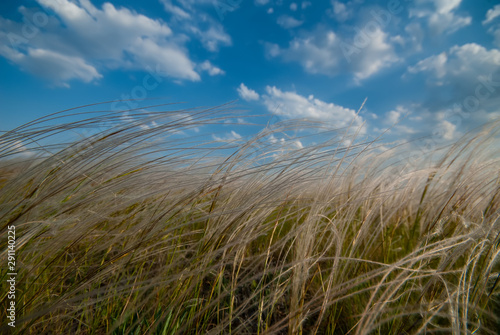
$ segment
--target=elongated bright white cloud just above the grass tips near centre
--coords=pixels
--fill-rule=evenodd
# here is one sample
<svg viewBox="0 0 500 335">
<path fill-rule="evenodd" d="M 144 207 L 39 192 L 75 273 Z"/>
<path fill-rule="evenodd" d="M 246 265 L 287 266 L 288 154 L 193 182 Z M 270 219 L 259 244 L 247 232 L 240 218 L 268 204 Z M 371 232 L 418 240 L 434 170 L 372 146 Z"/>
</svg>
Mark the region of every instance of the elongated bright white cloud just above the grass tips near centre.
<svg viewBox="0 0 500 335">
<path fill-rule="evenodd" d="M 275 86 L 267 86 L 262 100 L 267 110 L 286 118 L 307 118 L 331 123 L 335 127 L 362 127 L 363 118 L 356 111 L 333 103 L 327 103 L 295 92 L 284 92 Z M 365 128 L 362 128 L 362 132 Z"/>
</svg>

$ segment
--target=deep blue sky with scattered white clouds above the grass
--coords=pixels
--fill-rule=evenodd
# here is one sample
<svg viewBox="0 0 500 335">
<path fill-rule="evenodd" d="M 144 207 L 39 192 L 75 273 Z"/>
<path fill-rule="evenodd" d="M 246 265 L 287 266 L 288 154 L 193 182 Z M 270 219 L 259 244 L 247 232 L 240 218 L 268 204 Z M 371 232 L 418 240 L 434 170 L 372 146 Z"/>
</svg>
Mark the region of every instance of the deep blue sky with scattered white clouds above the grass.
<svg viewBox="0 0 500 335">
<path fill-rule="evenodd" d="M 252 114 L 363 136 L 396 124 L 386 135 L 398 140 L 455 140 L 500 116 L 497 1 L 3 1 L 0 56 L 0 130 L 157 97 L 239 99 Z"/>
</svg>

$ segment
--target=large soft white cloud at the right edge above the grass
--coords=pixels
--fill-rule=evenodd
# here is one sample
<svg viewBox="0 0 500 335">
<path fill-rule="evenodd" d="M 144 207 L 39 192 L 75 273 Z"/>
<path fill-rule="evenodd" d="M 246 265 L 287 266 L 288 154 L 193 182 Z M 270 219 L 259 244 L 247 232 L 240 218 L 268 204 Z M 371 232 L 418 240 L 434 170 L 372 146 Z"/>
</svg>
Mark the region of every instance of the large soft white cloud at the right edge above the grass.
<svg viewBox="0 0 500 335">
<path fill-rule="evenodd" d="M 424 74 L 432 88 L 424 105 L 438 111 L 430 126 L 451 139 L 498 112 L 499 69 L 499 50 L 470 43 L 430 56 L 410 66 L 408 73 Z"/>
</svg>

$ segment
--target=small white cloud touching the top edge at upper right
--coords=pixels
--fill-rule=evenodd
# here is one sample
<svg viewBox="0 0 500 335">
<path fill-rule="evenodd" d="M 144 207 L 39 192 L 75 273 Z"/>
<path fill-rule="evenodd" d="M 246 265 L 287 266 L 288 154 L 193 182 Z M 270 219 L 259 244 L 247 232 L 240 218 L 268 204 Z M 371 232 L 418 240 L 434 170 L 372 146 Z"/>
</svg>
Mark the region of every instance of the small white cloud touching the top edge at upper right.
<svg viewBox="0 0 500 335">
<path fill-rule="evenodd" d="M 470 16 L 460 16 L 455 11 L 462 0 L 416 0 L 410 17 L 427 18 L 434 35 L 451 34 L 472 23 Z"/>
</svg>

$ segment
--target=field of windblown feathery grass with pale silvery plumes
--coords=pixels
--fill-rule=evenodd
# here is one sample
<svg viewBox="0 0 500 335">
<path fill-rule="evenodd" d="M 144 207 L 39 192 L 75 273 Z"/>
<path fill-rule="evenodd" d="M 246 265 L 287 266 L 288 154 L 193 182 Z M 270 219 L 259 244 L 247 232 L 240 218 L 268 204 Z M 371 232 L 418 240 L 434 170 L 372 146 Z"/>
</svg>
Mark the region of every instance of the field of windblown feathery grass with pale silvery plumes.
<svg viewBox="0 0 500 335">
<path fill-rule="evenodd" d="M 498 334 L 498 124 L 409 164 L 305 121 L 202 142 L 224 107 L 75 117 L 0 135 L 1 333 Z"/>
</svg>

